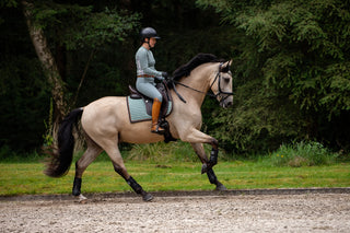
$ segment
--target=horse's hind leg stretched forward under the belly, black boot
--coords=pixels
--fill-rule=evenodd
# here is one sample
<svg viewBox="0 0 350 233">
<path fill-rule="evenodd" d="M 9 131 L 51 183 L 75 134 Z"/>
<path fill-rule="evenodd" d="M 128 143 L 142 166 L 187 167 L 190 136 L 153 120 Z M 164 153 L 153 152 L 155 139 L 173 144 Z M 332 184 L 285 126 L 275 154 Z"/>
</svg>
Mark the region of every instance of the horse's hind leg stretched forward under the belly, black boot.
<svg viewBox="0 0 350 233">
<path fill-rule="evenodd" d="M 135 193 L 141 195 L 144 201 L 152 200 L 153 196 L 144 191 L 143 188 L 129 175 L 118 149 L 118 143 L 112 141 L 112 143 L 108 143 L 108 145 L 105 147 L 105 151 L 112 160 L 114 170 L 128 183 L 128 185 L 130 185 Z"/>
</svg>

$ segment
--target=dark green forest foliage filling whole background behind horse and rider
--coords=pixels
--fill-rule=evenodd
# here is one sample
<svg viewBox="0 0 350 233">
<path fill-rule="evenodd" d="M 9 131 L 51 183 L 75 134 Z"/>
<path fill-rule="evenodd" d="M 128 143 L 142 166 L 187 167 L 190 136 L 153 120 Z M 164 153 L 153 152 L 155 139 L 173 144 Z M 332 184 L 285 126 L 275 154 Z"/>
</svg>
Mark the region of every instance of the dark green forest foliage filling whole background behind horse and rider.
<svg viewBox="0 0 350 233">
<path fill-rule="evenodd" d="M 199 53 L 233 59 L 234 107 L 207 98 L 202 108 L 203 130 L 228 151 L 291 140 L 350 150 L 348 0 L 31 2 L 71 108 L 128 94 L 138 31 L 153 26 L 159 70 L 172 73 Z M 0 3 L 0 145 L 27 150 L 43 143 L 51 100 L 20 7 Z"/>
</svg>

